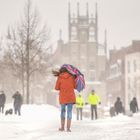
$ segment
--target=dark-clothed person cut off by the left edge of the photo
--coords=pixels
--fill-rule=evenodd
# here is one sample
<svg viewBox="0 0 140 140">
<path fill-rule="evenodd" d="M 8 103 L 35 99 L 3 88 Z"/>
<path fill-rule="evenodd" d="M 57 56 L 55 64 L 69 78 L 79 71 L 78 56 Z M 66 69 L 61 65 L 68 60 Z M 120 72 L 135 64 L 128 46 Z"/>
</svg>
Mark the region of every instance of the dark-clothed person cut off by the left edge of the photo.
<svg viewBox="0 0 140 140">
<path fill-rule="evenodd" d="M 4 91 L 1 91 L 2 93 L 0 94 L 0 112 L 4 113 L 4 106 L 6 102 L 6 95 Z"/>
</svg>

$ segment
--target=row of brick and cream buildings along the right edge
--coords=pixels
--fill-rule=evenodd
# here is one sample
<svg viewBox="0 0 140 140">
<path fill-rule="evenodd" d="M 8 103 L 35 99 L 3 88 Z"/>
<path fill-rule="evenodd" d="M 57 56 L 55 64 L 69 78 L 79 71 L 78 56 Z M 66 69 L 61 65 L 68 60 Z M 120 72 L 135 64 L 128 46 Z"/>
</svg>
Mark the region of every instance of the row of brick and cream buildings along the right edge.
<svg viewBox="0 0 140 140">
<path fill-rule="evenodd" d="M 106 97 L 111 104 L 121 97 L 125 109 L 130 100 L 140 99 L 140 41 L 133 41 L 128 47 L 110 51 L 106 77 Z"/>
</svg>

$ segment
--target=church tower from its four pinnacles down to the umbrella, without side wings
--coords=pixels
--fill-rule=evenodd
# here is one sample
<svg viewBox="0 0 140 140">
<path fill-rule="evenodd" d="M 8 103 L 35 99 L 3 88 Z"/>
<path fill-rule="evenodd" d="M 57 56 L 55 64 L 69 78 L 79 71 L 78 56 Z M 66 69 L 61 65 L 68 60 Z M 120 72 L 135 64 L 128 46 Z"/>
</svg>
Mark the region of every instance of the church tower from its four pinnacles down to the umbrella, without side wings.
<svg viewBox="0 0 140 140">
<path fill-rule="evenodd" d="M 68 9 L 69 50 L 71 64 L 79 67 L 87 80 L 95 80 L 98 55 L 98 13 L 89 15 L 89 5 L 86 4 L 84 15 L 80 14 L 80 4 L 77 3 L 77 14 L 71 14 L 71 4 Z"/>
</svg>

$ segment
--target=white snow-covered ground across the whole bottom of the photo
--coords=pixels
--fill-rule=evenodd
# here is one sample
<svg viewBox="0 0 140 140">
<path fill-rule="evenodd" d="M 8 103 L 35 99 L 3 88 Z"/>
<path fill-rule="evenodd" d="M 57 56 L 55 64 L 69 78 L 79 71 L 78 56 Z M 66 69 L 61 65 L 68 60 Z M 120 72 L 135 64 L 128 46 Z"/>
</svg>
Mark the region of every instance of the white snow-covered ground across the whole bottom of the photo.
<svg viewBox="0 0 140 140">
<path fill-rule="evenodd" d="M 23 105 L 20 117 L 0 114 L 0 140 L 140 140 L 139 113 L 96 121 L 74 116 L 71 133 L 58 131 L 59 113 L 49 105 Z"/>
</svg>

